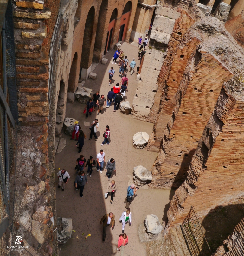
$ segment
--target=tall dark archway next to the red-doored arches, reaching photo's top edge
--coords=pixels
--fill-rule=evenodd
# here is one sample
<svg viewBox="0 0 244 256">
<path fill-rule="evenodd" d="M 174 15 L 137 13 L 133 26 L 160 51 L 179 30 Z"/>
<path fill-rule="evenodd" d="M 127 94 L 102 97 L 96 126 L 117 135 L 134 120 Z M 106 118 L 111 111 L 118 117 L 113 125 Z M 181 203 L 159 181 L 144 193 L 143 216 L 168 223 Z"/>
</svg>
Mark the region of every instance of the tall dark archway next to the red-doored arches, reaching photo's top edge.
<svg viewBox="0 0 244 256">
<path fill-rule="evenodd" d="M 103 0 L 99 10 L 96 38 L 95 38 L 94 51 L 93 51 L 93 61 L 95 62 L 100 61 L 101 51 L 102 51 L 102 48 L 104 47 L 102 43 L 103 43 L 103 37 L 104 37 L 104 28 L 105 28 L 107 10 L 108 10 L 108 0 Z"/>
</svg>

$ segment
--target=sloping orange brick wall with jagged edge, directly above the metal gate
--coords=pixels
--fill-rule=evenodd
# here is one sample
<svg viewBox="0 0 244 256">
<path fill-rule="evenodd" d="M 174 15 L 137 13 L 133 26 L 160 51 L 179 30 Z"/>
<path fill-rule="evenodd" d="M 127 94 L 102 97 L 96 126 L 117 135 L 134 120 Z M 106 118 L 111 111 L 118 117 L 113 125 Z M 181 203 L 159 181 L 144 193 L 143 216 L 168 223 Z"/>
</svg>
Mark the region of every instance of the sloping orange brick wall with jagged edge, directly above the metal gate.
<svg viewBox="0 0 244 256">
<path fill-rule="evenodd" d="M 242 73 L 223 84 L 188 176 L 170 201 L 167 226 L 181 223 L 192 205 L 201 217 L 217 206 L 243 197 L 243 87 Z"/>
</svg>

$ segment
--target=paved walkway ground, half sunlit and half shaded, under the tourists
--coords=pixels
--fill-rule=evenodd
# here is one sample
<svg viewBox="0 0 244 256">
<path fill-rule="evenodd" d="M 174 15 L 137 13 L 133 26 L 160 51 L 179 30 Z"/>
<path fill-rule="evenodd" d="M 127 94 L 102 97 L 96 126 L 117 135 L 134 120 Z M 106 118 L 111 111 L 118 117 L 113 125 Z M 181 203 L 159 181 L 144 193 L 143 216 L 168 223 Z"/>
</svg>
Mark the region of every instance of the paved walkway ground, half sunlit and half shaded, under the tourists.
<svg viewBox="0 0 244 256">
<path fill-rule="evenodd" d="M 121 49 L 125 52 L 129 59 L 129 63 L 133 58 L 136 61 L 136 67 L 139 66 L 138 61 L 138 47 L 137 44 L 123 43 Z M 112 65 L 112 56 L 114 51 L 106 54 L 105 58 L 108 59 L 107 65 L 99 64 L 94 73 L 97 74 L 96 80 L 87 79 L 84 87 L 93 89 L 93 93 L 97 90 L 100 95 L 104 94 L 107 98 L 107 93 L 110 88 L 117 82 L 119 78 L 118 64 Z M 111 62 L 110 62 L 111 61 Z M 108 70 L 111 66 L 115 69 L 113 81 L 111 86 L 108 85 Z M 135 71 L 136 71 L 135 67 Z M 126 97 L 131 104 L 133 102 L 134 94 L 137 88 L 136 81 L 137 73 L 134 72 L 131 76 L 127 72 L 129 79 L 128 93 Z M 113 104 L 113 103 L 112 103 Z M 75 161 L 79 157 L 78 149 L 75 147 L 76 141 L 70 140 L 70 136 L 62 134 L 66 138 L 66 147 L 61 153 L 56 154 L 55 169 L 66 169 L 70 175 L 70 180 L 67 183 L 65 190 L 62 192 L 61 188 L 58 189 L 56 177 L 56 204 L 57 216 L 69 217 L 73 220 L 72 239 L 69 239 L 65 245 L 62 245 L 60 255 L 120 255 L 116 250 L 119 234 L 122 233 L 122 224 L 119 218 L 123 211 L 125 211 L 125 204 L 123 203 L 127 194 L 127 187 L 132 182 L 133 167 L 143 165 L 150 169 L 157 153 L 150 152 L 145 149 L 139 150 L 132 146 L 132 137 L 139 131 L 147 132 L 149 135 L 152 132 L 153 124 L 144 121 L 136 120 L 132 115 L 121 114 L 120 111 L 113 112 L 113 106 L 105 108 L 102 114 L 97 115 L 95 112 L 92 116 L 85 119 L 83 110 L 84 104 L 75 101 L 74 104 L 67 104 L 66 117 L 73 117 L 77 119 L 81 125 L 81 129 L 87 135 L 82 152 L 86 158 L 92 155 L 94 159 L 96 154 L 103 149 L 105 152 L 105 162 L 110 158 L 116 161 L 116 176 L 113 173 L 112 179 L 117 183 L 116 192 L 114 195 L 113 204 L 110 203 L 110 197 L 104 198 L 108 179 L 105 177 L 105 171 L 102 174 L 93 170 L 92 177 L 88 178 L 88 183 L 85 185 L 83 191 L 83 198 L 80 197 L 79 191 L 74 188 L 74 179 L 76 176 Z M 98 140 L 88 140 L 90 130 L 89 127 L 84 126 L 84 122 L 92 122 L 98 118 Z M 105 126 L 110 126 L 111 143 L 110 145 L 100 146 L 103 141 L 103 131 Z M 87 171 L 87 168 L 84 169 Z M 111 179 L 111 180 L 112 180 Z M 111 181 L 110 180 L 110 181 Z M 124 255 L 146 255 L 146 244 L 140 243 L 138 237 L 138 225 L 143 223 L 147 214 L 155 214 L 160 220 L 166 218 L 166 212 L 169 208 L 169 201 L 173 195 L 173 191 L 150 189 L 147 186 L 140 188 L 137 191 L 137 196 L 133 199 L 130 206 L 132 212 L 132 225 L 125 226 L 125 233 L 129 237 L 129 243 L 125 247 Z M 106 241 L 102 242 L 102 225 L 100 219 L 106 213 L 113 212 L 115 214 L 115 226 L 113 229 L 107 228 Z M 82 235 L 84 234 L 84 235 Z M 85 239 L 85 236 L 91 234 L 90 237 Z"/>
</svg>

